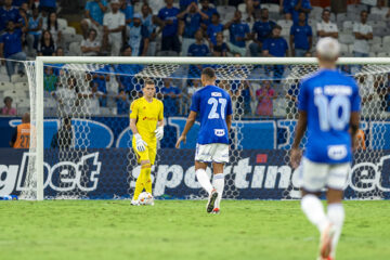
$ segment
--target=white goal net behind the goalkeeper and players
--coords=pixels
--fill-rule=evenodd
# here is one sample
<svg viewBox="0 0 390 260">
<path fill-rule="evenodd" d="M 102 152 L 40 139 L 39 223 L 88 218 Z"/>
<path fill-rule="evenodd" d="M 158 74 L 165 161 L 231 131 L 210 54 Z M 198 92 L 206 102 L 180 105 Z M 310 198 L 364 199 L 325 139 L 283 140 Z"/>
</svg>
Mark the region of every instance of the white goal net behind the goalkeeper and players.
<svg viewBox="0 0 390 260">
<path fill-rule="evenodd" d="M 217 84 L 233 101 L 223 196 L 299 197 L 288 152 L 299 81 L 317 70 L 314 58 L 38 57 L 25 66 L 37 131 L 31 138 L 36 145 L 24 154 L 23 198 L 130 198 L 140 167 L 128 113 L 142 96 L 145 79 L 155 81 L 156 98 L 165 104 L 165 138 L 152 172 L 154 195 L 205 197 L 193 167 L 198 125 L 181 150 L 173 146 L 206 66 L 214 68 Z M 390 60 L 340 58 L 338 69 L 356 79 L 363 101 L 346 198 L 389 198 Z"/>
</svg>

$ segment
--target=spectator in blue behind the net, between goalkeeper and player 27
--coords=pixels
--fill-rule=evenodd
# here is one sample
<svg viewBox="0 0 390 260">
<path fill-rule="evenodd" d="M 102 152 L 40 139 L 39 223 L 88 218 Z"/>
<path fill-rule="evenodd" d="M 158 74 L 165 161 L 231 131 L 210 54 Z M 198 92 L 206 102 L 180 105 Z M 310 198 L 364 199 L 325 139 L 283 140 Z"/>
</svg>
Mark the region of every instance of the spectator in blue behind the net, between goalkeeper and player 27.
<svg viewBox="0 0 390 260">
<path fill-rule="evenodd" d="M 178 87 L 173 87 L 172 79 L 165 78 L 161 93 L 164 95 L 164 114 L 165 116 L 177 116 L 179 114 L 179 100 L 181 99 L 181 90 Z"/>
</svg>

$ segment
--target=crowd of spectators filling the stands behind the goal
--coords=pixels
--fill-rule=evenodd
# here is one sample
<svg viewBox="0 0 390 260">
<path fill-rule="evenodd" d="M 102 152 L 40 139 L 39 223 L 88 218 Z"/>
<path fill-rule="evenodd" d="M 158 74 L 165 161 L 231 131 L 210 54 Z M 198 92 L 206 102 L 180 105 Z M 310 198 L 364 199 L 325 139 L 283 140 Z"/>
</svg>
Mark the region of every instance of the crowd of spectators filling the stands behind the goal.
<svg viewBox="0 0 390 260">
<path fill-rule="evenodd" d="M 338 38 L 344 56 L 390 55 L 390 10 L 385 0 L 378 0 L 377 6 L 349 4 L 341 6 L 347 12 L 338 13 L 312 6 L 310 0 L 90 0 L 84 3 L 78 24 L 80 35 L 67 26 L 66 20 L 58 18 L 63 2 L 0 1 L 0 57 L 8 60 L 1 60 L 1 64 L 11 82 L 26 77 L 23 64 L 16 66 L 10 60 L 34 60 L 36 55 L 312 56 L 313 46 L 321 37 Z M 90 74 L 88 90 L 79 91 L 73 86 L 78 80 L 62 82 L 61 70 L 48 67 L 44 90 L 47 98 L 56 102 L 90 100 L 94 115 L 107 110 L 125 115 L 130 102 L 139 96 L 140 87 L 133 77 L 123 74 L 136 74 L 140 69 L 136 65 L 105 66 Z M 188 100 L 199 87 L 199 68 L 188 69 L 187 80 L 164 79 L 157 86 L 167 116 L 187 113 Z M 353 74 L 354 67 L 342 69 Z M 285 116 L 285 108 L 277 110 L 286 104 L 289 113 L 294 112 L 298 87 L 291 83 L 286 88 L 278 80 L 286 73 L 285 67 L 264 70 L 262 80 L 219 82 L 232 95 L 238 114 Z M 390 112 L 389 81 L 360 79 L 361 83 L 369 80 L 375 88 L 367 92 L 367 102 L 379 100 L 379 109 Z M 8 81 L 4 75 L 1 81 Z M 12 103 L 13 96 L 3 98 L 9 98 L 6 102 L 4 99 L 5 104 Z M 10 108 L 2 112 L 14 113 Z"/>
</svg>

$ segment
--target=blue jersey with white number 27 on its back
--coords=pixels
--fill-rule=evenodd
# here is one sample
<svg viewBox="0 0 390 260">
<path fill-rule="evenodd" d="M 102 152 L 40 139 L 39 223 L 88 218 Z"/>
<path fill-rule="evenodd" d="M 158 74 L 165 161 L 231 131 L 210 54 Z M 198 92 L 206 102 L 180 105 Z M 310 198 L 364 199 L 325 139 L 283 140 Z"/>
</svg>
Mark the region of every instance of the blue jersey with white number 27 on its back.
<svg viewBox="0 0 390 260">
<path fill-rule="evenodd" d="M 226 91 L 206 86 L 192 98 L 191 110 L 200 116 L 198 144 L 229 144 L 226 116 L 232 115 L 232 100 Z"/>
</svg>

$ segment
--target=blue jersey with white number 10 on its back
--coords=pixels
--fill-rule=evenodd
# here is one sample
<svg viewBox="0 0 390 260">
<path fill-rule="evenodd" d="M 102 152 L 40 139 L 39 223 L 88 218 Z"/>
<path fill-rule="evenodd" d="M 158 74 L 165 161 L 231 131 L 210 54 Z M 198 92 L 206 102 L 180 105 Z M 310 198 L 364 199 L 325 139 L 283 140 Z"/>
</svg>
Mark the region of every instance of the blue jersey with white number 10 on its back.
<svg viewBox="0 0 390 260">
<path fill-rule="evenodd" d="M 356 82 L 337 70 L 320 69 L 301 81 L 298 106 L 308 114 L 304 157 L 321 164 L 351 161 L 350 118 L 361 108 Z"/>
</svg>

